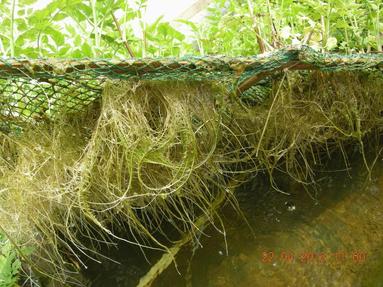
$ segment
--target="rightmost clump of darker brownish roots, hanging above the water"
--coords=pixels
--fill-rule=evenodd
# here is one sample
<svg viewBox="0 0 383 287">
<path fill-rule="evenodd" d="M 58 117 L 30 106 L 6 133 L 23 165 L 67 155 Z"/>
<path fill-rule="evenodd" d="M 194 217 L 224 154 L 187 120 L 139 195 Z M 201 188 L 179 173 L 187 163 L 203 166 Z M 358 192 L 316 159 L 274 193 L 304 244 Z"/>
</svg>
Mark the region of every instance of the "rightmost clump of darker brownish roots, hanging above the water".
<svg viewBox="0 0 383 287">
<path fill-rule="evenodd" d="M 228 129 L 241 143 L 234 160 L 312 182 L 323 155 L 350 144 L 363 152 L 366 135 L 381 130 L 382 81 L 369 73 L 287 74 L 267 102 L 232 109 Z"/>
</svg>

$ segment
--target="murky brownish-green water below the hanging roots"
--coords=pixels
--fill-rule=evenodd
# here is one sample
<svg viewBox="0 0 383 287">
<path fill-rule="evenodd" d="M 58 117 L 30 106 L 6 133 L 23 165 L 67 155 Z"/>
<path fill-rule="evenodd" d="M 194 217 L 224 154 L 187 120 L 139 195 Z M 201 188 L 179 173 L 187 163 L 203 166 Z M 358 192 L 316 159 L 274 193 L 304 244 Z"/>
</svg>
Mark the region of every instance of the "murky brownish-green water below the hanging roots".
<svg viewBox="0 0 383 287">
<path fill-rule="evenodd" d="M 154 286 L 383 286 L 383 161 L 372 181 L 360 158 L 352 162 L 339 170 L 334 159 L 307 190 L 278 178 L 290 195 L 257 177 L 237 193 L 253 232 L 225 208 L 226 238 L 208 228 L 202 247 L 184 248 L 178 272 L 170 267 Z M 130 247 L 112 253 L 123 264 L 97 267 L 92 286 L 135 286 L 149 264 Z"/>
</svg>

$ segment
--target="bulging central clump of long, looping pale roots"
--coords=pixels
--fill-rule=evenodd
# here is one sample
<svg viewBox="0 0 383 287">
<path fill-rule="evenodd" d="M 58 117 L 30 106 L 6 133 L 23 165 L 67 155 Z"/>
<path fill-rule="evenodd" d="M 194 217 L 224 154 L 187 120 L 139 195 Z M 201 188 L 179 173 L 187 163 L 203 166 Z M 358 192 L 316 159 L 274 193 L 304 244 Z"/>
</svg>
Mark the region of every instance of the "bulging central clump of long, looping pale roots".
<svg viewBox="0 0 383 287">
<path fill-rule="evenodd" d="M 105 88 L 100 118 L 74 178 L 86 214 L 100 224 L 119 214 L 150 237 L 152 220 L 139 219 L 137 210 L 188 225 L 193 221 L 185 218 L 188 205 L 209 206 L 205 178 L 217 169 L 211 158 L 220 118 L 204 89 L 124 83 Z"/>
</svg>

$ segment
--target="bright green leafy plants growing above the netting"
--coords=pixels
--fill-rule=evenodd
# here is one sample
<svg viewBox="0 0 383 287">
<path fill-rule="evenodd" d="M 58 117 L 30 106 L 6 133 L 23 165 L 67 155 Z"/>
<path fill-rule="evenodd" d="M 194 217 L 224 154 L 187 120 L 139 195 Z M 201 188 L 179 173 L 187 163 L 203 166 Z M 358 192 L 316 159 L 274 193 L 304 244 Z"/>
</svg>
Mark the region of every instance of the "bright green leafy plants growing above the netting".
<svg viewBox="0 0 383 287">
<path fill-rule="evenodd" d="M 126 43 L 136 57 L 252 55 L 290 44 L 366 52 L 383 44 L 378 0 L 213 0 L 200 23 L 159 17 L 151 24 L 144 21 L 146 0 L 36 3 L 0 1 L 1 55 L 128 57 Z M 180 32 L 185 27 L 191 34 Z"/>
</svg>

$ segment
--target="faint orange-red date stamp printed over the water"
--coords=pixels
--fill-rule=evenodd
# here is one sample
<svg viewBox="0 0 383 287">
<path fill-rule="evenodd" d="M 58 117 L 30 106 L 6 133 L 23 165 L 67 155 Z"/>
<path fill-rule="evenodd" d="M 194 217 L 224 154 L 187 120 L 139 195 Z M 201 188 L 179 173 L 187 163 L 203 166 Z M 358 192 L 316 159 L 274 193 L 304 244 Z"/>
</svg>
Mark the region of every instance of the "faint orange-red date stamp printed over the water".
<svg viewBox="0 0 383 287">
<path fill-rule="evenodd" d="M 261 262 L 273 263 L 299 263 L 299 264 L 363 264 L 367 260 L 367 252 L 361 250 L 335 251 L 335 252 L 293 252 L 291 250 L 273 251 L 265 250 L 261 254 Z"/>
</svg>

